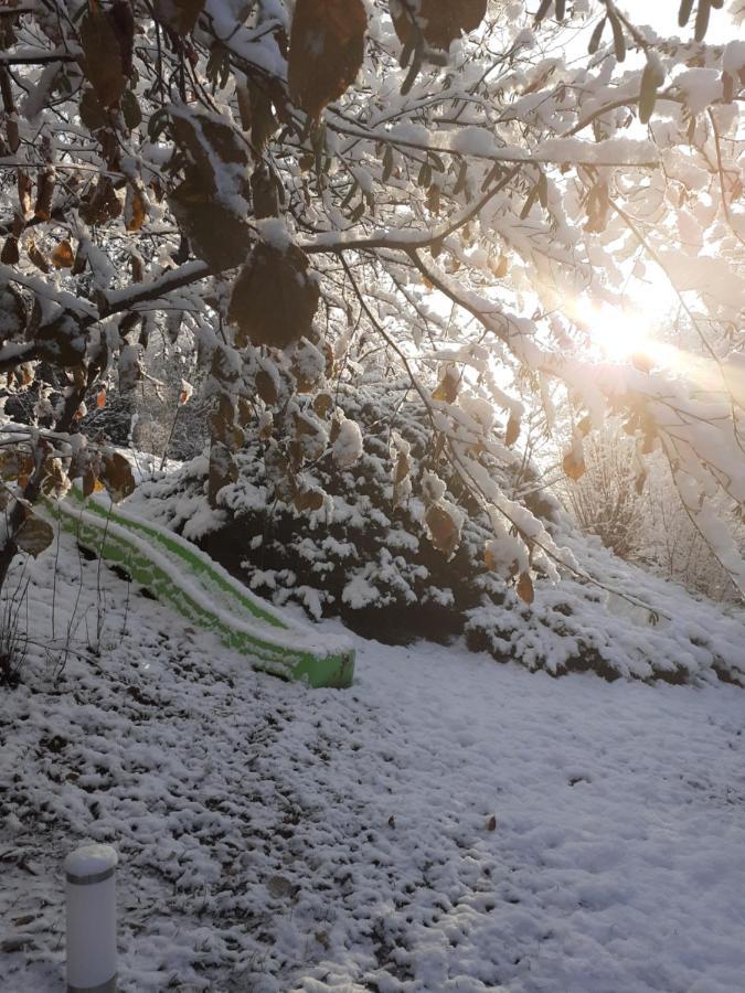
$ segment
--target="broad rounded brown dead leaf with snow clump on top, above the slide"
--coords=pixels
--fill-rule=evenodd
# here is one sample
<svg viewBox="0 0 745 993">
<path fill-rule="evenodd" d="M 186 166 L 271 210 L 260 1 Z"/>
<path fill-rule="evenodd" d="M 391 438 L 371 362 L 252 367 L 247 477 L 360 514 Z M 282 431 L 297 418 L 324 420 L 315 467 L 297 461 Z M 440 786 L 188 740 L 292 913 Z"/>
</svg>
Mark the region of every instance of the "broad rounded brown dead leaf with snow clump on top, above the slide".
<svg viewBox="0 0 745 993">
<path fill-rule="evenodd" d="M 311 330 L 320 291 L 308 256 L 259 242 L 233 287 L 228 319 L 238 325 L 237 348 L 248 342 L 285 349 Z"/>
</svg>

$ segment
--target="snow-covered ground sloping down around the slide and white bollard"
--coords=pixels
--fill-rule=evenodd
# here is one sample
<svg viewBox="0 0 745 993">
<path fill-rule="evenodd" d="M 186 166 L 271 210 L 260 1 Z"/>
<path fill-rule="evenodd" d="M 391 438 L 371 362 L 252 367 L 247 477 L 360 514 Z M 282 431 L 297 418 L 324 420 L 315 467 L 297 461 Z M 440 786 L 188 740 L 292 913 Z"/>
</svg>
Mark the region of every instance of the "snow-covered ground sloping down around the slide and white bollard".
<svg viewBox="0 0 745 993">
<path fill-rule="evenodd" d="M 127 604 L 66 538 L 29 568 L 38 644 L 0 691 L 3 993 L 62 989 L 86 840 L 120 853 L 123 991 L 745 989 L 742 690 L 358 641 L 355 686 L 311 692 Z M 100 653 L 55 680 L 71 617 Z"/>
</svg>

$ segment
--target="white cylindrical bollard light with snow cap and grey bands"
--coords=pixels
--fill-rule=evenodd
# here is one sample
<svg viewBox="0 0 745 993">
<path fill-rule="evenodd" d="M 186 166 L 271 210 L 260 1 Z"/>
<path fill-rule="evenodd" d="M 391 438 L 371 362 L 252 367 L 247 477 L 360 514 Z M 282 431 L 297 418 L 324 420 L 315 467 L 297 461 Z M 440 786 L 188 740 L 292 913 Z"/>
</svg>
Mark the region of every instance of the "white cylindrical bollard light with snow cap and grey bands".
<svg viewBox="0 0 745 993">
<path fill-rule="evenodd" d="M 110 845 L 83 845 L 65 859 L 67 993 L 116 993 L 116 866 Z"/>
</svg>

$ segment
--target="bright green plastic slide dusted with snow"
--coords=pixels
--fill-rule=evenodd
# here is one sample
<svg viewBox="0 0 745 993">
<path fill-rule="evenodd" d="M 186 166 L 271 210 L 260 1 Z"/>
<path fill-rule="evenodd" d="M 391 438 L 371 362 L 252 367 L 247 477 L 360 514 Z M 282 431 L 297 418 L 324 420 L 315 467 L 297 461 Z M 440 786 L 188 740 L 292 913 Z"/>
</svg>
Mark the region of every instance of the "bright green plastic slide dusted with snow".
<svg viewBox="0 0 745 993">
<path fill-rule="evenodd" d="M 190 623 L 215 631 L 256 669 L 309 686 L 351 686 L 354 650 L 339 636 L 320 637 L 248 589 L 190 542 L 73 489 L 50 502 L 62 527 L 85 548 L 120 566 Z"/>
</svg>

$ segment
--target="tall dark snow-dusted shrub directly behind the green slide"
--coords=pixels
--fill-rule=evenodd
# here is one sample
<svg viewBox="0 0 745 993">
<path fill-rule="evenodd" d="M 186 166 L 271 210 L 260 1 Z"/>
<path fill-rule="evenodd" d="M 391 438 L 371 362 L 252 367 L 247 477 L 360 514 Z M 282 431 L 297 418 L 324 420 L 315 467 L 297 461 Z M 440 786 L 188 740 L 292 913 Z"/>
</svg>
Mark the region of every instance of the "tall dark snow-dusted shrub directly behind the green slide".
<svg viewBox="0 0 745 993">
<path fill-rule="evenodd" d="M 312 616 L 339 615 L 354 630 L 393 642 L 457 633 L 464 610 L 481 599 L 473 580 L 485 568 L 487 519 L 470 508 L 450 557 L 427 535 L 416 477 L 433 474 L 432 429 L 407 382 L 347 388 L 336 399 L 347 419 L 329 451 L 304 473 L 309 489 L 326 494 L 317 510 L 297 509 L 281 462 L 277 467 L 258 431 L 248 434 L 236 458 L 240 477 L 221 490 L 215 511 L 206 501 L 206 458 L 146 484 L 137 499 L 258 592 L 297 600 Z M 365 445 L 353 459 L 358 425 Z M 415 477 L 415 492 L 397 504 L 392 437 L 408 447 Z M 468 500 L 451 473 L 438 471 L 451 505 Z"/>
</svg>

